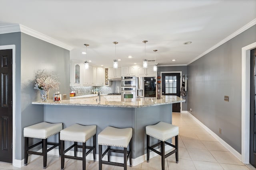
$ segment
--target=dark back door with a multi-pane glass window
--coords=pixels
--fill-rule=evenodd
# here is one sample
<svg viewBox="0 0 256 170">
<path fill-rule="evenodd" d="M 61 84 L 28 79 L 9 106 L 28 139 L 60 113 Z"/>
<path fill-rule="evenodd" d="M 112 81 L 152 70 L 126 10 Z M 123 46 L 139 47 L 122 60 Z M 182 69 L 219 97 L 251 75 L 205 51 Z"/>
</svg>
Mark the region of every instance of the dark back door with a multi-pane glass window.
<svg viewBox="0 0 256 170">
<path fill-rule="evenodd" d="M 162 95 L 180 97 L 180 73 L 162 73 Z M 180 112 L 180 103 L 172 104 L 172 112 Z"/>
</svg>

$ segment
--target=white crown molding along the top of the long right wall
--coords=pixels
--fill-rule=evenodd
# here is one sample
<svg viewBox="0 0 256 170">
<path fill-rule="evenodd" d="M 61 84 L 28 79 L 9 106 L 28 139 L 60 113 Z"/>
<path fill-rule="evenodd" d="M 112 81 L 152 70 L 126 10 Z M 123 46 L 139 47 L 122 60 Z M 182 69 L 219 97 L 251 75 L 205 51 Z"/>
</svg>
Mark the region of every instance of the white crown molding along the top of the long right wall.
<svg viewBox="0 0 256 170">
<path fill-rule="evenodd" d="M 250 21 L 249 23 L 247 23 L 246 25 L 244 25 L 242 28 L 238 29 L 236 32 L 232 33 L 231 35 L 229 35 L 228 37 L 226 37 L 225 39 L 223 39 L 222 41 L 220 41 L 219 43 L 217 43 L 216 45 L 214 45 L 213 47 L 211 47 L 210 49 L 206 50 L 204 53 L 200 54 L 198 57 L 194 58 L 193 60 L 191 60 L 190 62 L 187 63 L 191 64 L 194 61 L 196 61 L 197 59 L 200 59 L 201 57 L 203 57 L 204 55 L 210 53 L 212 50 L 220 47 L 220 45 L 226 43 L 227 41 L 229 41 L 230 39 L 236 37 L 236 35 L 239 35 L 240 33 L 246 31 L 246 29 L 249 29 L 250 27 L 252 27 L 253 25 L 256 24 L 256 19 Z"/>
</svg>

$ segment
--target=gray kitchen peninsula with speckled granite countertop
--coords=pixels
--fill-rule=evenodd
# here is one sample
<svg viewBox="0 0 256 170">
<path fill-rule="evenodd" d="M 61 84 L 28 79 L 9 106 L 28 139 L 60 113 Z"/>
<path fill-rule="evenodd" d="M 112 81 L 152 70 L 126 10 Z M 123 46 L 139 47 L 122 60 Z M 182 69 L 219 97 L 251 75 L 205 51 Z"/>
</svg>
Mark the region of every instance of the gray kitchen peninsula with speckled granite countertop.
<svg viewBox="0 0 256 170">
<path fill-rule="evenodd" d="M 159 100 L 138 102 L 85 102 L 76 100 L 62 100 L 61 102 L 32 102 L 42 105 L 44 121 L 51 123 L 62 122 L 64 128 L 79 123 L 82 125 L 97 125 L 97 135 L 105 127 L 132 127 L 133 129 L 133 164 L 144 161 L 146 154 L 145 127 L 159 121 L 172 123 L 172 104 L 185 102 L 177 96 L 164 96 Z M 152 140 L 152 142 L 155 142 Z M 98 152 L 98 148 L 97 148 Z"/>
</svg>

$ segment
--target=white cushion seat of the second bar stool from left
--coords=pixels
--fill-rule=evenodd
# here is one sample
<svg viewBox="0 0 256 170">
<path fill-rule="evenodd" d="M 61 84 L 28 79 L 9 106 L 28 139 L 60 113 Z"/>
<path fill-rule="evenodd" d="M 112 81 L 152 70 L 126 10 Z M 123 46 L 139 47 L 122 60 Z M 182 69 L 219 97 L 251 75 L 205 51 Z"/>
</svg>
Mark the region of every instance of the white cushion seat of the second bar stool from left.
<svg viewBox="0 0 256 170">
<path fill-rule="evenodd" d="M 85 143 L 96 134 L 96 125 L 74 124 L 60 131 L 60 140 Z"/>
</svg>

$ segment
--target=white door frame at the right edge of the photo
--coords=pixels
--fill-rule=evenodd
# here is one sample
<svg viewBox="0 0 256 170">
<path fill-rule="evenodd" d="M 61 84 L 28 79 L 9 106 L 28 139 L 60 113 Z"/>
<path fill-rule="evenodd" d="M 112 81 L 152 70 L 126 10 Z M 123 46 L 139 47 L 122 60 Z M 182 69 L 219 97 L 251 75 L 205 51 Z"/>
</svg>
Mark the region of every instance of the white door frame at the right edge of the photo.
<svg viewBox="0 0 256 170">
<path fill-rule="evenodd" d="M 242 47 L 242 162 L 250 163 L 250 50 L 256 42 Z"/>
</svg>

